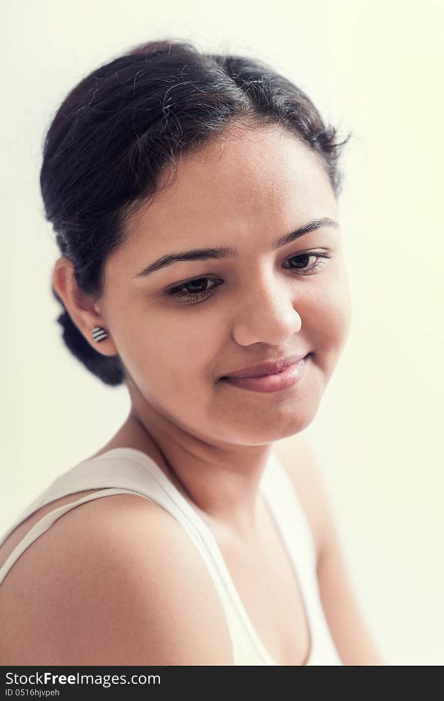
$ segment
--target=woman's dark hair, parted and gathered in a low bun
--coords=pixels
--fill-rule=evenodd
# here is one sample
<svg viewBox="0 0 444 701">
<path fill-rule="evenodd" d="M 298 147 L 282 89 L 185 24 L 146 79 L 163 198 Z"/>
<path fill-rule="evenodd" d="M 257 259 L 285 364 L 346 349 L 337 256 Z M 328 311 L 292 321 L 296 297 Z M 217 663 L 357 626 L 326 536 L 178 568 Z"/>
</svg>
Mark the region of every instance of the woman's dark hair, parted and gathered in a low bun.
<svg viewBox="0 0 444 701">
<path fill-rule="evenodd" d="M 67 95 L 46 133 L 40 184 L 46 219 L 86 294 L 100 296 L 105 261 L 126 238 L 130 212 L 159 190 L 165 165 L 236 124 L 279 124 L 316 151 L 335 196 L 337 130 L 309 97 L 250 57 L 201 53 L 189 41 L 151 41 L 95 69 Z M 168 183 L 167 183 L 168 185 Z M 63 340 L 108 385 L 125 379 L 119 355 L 90 346 L 64 311 Z"/>
</svg>

